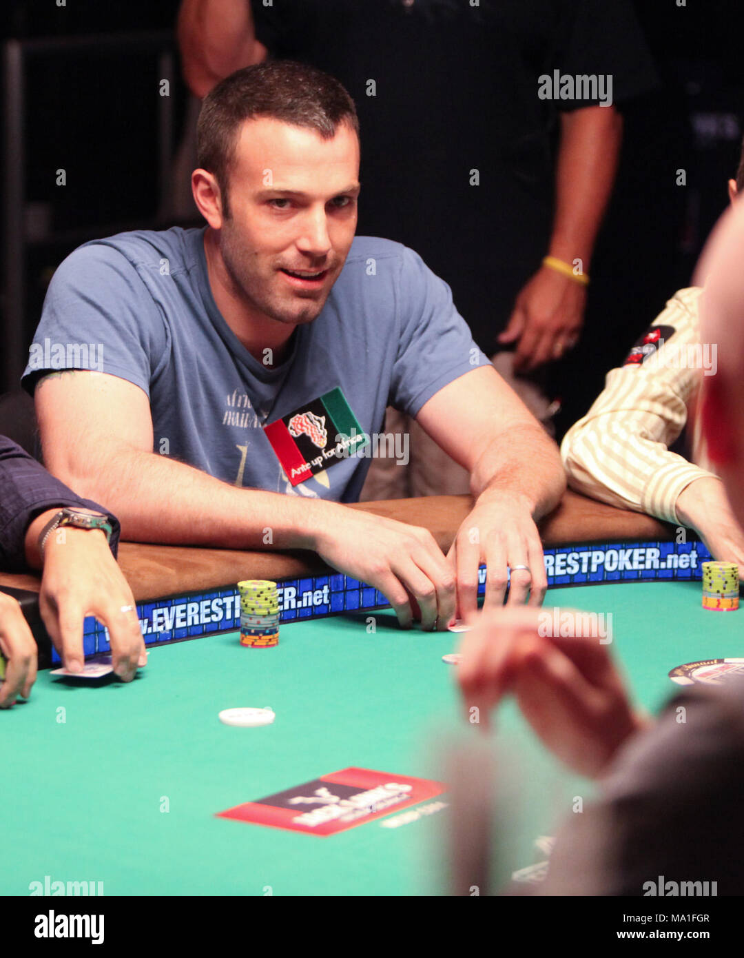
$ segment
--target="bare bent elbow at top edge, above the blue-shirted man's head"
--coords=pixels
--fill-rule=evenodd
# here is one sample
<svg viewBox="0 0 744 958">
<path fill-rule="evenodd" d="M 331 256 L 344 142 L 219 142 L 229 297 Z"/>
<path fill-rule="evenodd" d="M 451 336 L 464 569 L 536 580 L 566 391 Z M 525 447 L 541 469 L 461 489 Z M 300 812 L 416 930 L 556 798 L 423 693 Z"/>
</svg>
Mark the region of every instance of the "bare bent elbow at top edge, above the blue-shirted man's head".
<svg viewBox="0 0 744 958">
<path fill-rule="evenodd" d="M 176 35 L 184 80 L 199 99 L 219 80 L 266 58 L 250 0 L 183 0 Z"/>
</svg>

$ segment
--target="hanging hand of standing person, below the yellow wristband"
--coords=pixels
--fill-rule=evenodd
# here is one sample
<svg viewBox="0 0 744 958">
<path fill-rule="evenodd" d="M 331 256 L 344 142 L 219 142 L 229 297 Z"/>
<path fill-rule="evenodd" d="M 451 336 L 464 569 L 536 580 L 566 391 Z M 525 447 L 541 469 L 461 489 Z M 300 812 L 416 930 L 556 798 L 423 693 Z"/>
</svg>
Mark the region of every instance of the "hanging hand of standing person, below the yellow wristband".
<svg viewBox="0 0 744 958">
<path fill-rule="evenodd" d="M 542 266 L 517 296 L 502 345 L 518 342 L 514 370 L 528 372 L 576 345 L 584 323 L 586 287 Z"/>
</svg>

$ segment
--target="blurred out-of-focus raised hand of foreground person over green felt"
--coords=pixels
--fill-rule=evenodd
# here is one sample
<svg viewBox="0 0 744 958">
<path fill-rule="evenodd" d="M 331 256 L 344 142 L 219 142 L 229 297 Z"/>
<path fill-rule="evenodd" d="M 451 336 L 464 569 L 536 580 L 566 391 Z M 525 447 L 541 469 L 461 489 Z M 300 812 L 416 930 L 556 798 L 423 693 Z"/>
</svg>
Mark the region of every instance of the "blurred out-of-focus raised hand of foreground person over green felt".
<svg viewBox="0 0 744 958">
<path fill-rule="evenodd" d="M 561 609 L 561 616 L 569 611 Z M 572 614 L 581 621 L 580 612 Z M 491 709 L 513 693 L 543 744 L 594 777 L 645 719 L 633 712 L 607 646 L 593 637 L 541 634 L 550 631 L 550 618 L 551 610 L 531 608 L 472 617 L 457 670 L 462 699 L 466 709 L 479 709 L 487 727 Z"/>
</svg>

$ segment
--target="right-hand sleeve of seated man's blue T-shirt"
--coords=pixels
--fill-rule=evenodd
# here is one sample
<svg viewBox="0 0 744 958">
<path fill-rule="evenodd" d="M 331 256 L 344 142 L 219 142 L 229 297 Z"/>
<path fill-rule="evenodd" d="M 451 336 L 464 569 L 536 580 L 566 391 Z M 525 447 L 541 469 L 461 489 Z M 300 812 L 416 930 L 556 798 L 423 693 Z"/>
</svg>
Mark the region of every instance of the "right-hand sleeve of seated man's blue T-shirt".
<svg viewBox="0 0 744 958">
<path fill-rule="evenodd" d="M 490 365 L 452 302 L 450 287 L 403 247 L 397 283 L 398 346 L 390 404 L 409 416 L 440 389 Z"/>
</svg>

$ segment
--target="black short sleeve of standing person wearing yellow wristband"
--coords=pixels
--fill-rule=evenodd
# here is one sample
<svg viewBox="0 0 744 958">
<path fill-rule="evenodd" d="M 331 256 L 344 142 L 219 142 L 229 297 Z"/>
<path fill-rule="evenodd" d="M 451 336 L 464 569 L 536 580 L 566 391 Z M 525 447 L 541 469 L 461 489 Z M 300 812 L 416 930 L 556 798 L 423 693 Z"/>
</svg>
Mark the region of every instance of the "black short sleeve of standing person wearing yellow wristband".
<svg viewBox="0 0 744 958">
<path fill-rule="evenodd" d="M 605 78 L 611 102 L 621 103 L 647 93 L 658 82 L 653 60 L 630 0 L 568 0 L 558 31 L 552 69 L 562 76 Z M 564 112 L 596 106 L 592 95 L 561 100 Z"/>
</svg>

